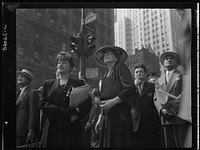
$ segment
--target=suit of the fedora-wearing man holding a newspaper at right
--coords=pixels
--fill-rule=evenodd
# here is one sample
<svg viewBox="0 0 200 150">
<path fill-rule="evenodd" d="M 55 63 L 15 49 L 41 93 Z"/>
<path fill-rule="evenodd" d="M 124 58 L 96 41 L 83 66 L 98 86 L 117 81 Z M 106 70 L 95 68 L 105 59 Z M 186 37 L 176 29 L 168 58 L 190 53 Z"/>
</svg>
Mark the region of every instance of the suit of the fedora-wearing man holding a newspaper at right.
<svg viewBox="0 0 200 150">
<path fill-rule="evenodd" d="M 174 96 L 179 96 L 182 93 L 183 76 L 175 69 L 169 82 L 165 82 L 165 74 L 158 79 L 158 84 L 161 90 L 166 91 Z M 189 126 L 187 121 L 182 120 L 177 116 L 179 112 L 181 99 L 168 97 L 165 104 L 159 104 L 159 99 L 156 100 L 158 112 L 161 109 L 167 109 L 173 114 L 172 117 L 160 115 L 161 124 L 164 130 L 164 143 L 166 148 L 183 147 L 184 137 Z"/>
</svg>

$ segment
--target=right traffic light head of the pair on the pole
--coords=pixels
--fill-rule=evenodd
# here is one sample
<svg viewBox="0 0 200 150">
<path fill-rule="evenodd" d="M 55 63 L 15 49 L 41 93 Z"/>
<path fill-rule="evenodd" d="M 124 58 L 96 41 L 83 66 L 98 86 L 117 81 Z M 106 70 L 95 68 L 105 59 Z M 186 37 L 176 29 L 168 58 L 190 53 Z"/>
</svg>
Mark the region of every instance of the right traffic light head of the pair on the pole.
<svg viewBox="0 0 200 150">
<path fill-rule="evenodd" d="M 96 38 L 92 35 L 86 35 L 86 51 L 85 51 L 85 56 L 88 57 L 92 55 L 92 51 L 95 49 L 95 42 Z"/>
</svg>

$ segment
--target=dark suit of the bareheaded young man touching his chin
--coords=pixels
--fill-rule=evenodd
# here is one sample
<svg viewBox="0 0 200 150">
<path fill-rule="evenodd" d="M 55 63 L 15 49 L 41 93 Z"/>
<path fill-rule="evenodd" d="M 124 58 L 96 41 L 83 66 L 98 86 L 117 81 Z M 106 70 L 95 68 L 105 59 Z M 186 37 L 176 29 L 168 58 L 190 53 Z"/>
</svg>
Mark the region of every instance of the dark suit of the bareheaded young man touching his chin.
<svg viewBox="0 0 200 150">
<path fill-rule="evenodd" d="M 134 147 L 159 148 L 160 147 L 160 118 L 154 105 L 155 85 L 144 82 L 141 95 L 136 90 L 133 107 L 140 115 L 138 130 L 134 133 Z M 134 122 L 133 122 L 134 123 Z"/>
</svg>

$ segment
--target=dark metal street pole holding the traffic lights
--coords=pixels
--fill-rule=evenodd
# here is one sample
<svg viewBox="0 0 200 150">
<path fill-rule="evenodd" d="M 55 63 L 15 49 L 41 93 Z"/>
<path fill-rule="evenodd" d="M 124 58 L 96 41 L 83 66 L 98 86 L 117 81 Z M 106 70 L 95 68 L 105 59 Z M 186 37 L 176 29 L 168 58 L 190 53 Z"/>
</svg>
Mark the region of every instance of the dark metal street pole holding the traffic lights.
<svg viewBox="0 0 200 150">
<path fill-rule="evenodd" d="M 80 55 L 80 74 L 79 77 L 85 78 L 85 9 L 81 9 L 81 29 L 80 36 L 83 38 L 83 43 L 81 44 L 81 55 Z"/>
</svg>

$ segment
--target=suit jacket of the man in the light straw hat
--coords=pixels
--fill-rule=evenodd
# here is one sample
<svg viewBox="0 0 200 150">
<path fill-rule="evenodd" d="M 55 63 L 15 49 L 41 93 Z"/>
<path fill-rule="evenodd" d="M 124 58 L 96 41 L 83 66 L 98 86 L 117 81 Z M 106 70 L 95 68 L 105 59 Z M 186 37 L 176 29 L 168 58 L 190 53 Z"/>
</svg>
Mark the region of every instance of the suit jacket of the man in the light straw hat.
<svg viewBox="0 0 200 150">
<path fill-rule="evenodd" d="M 16 135 L 28 134 L 28 129 L 39 130 L 39 96 L 36 90 L 27 87 L 20 100 L 16 101 Z"/>
</svg>

